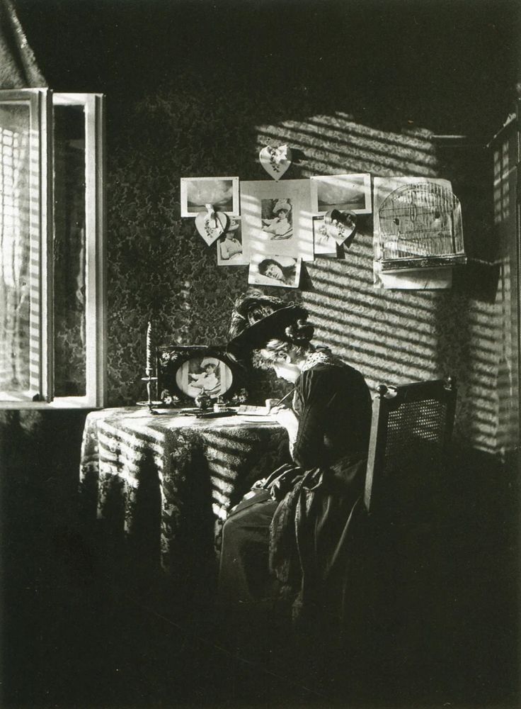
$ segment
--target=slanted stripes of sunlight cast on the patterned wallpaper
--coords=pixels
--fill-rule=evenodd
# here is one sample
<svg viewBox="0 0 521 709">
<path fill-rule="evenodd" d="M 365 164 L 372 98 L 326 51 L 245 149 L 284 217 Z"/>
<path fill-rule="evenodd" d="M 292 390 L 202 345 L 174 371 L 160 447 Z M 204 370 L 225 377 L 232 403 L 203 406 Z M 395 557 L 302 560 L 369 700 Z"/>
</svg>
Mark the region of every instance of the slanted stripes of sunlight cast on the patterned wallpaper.
<svg viewBox="0 0 521 709">
<path fill-rule="evenodd" d="M 259 150 L 268 143 L 287 143 L 304 153 L 302 177 L 370 172 L 373 177 L 450 179 L 441 172 L 428 130 L 388 133 L 341 112 L 257 128 Z M 466 237 L 471 239 L 471 233 Z M 372 223 L 366 220 L 343 259 L 317 258 L 306 264 L 302 303 L 316 325 L 316 340 L 358 367 L 373 387 L 454 376 L 459 391 L 456 435 L 496 452 L 504 445 L 498 431 L 500 303 L 471 297 L 458 287 L 377 289 L 372 257 Z"/>
</svg>

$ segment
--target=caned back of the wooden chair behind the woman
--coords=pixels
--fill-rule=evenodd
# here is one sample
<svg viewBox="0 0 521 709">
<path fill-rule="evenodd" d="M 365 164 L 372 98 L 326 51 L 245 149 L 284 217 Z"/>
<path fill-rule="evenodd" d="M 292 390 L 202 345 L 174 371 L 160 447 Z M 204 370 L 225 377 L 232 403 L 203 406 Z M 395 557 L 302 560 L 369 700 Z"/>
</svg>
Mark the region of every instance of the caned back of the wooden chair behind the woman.
<svg viewBox="0 0 521 709">
<path fill-rule="evenodd" d="M 400 520 L 435 507 L 456 394 L 452 379 L 378 387 L 365 479 L 369 513 Z"/>
</svg>

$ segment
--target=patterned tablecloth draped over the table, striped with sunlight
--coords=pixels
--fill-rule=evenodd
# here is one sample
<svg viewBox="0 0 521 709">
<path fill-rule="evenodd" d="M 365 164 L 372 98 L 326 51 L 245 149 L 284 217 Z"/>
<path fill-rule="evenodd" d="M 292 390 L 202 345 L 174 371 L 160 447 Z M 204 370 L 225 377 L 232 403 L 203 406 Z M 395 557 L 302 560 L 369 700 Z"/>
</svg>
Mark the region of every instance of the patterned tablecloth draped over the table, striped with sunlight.
<svg viewBox="0 0 521 709">
<path fill-rule="evenodd" d="M 175 571 L 213 549 L 215 523 L 282 462 L 286 440 L 277 423 L 239 415 L 89 413 L 81 447 L 83 514 L 103 520 L 126 545 L 132 540 L 142 559 Z"/>
</svg>

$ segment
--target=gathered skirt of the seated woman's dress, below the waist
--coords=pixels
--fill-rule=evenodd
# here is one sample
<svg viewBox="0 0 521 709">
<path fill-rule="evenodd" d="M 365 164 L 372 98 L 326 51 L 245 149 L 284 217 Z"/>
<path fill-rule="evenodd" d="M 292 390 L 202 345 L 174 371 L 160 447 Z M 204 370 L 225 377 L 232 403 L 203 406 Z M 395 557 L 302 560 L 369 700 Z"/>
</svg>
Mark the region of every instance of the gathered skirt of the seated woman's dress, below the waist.
<svg viewBox="0 0 521 709">
<path fill-rule="evenodd" d="M 222 530 L 221 600 L 245 610 L 282 600 L 297 626 L 345 632 L 363 593 L 365 467 L 365 455 L 325 469 L 285 465 L 247 493 Z"/>
</svg>

